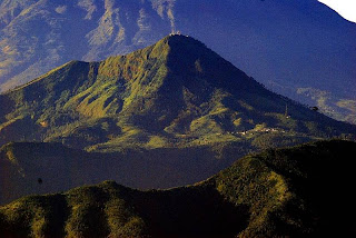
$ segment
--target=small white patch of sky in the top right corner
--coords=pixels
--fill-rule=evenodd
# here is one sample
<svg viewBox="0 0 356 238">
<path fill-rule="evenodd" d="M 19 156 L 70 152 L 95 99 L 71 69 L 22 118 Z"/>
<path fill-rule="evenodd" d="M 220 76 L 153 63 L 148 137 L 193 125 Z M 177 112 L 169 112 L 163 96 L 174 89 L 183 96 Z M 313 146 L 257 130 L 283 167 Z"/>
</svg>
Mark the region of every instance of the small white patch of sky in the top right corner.
<svg viewBox="0 0 356 238">
<path fill-rule="evenodd" d="M 349 21 L 356 22 L 356 0 L 319 0 Z"/>
</svg>

